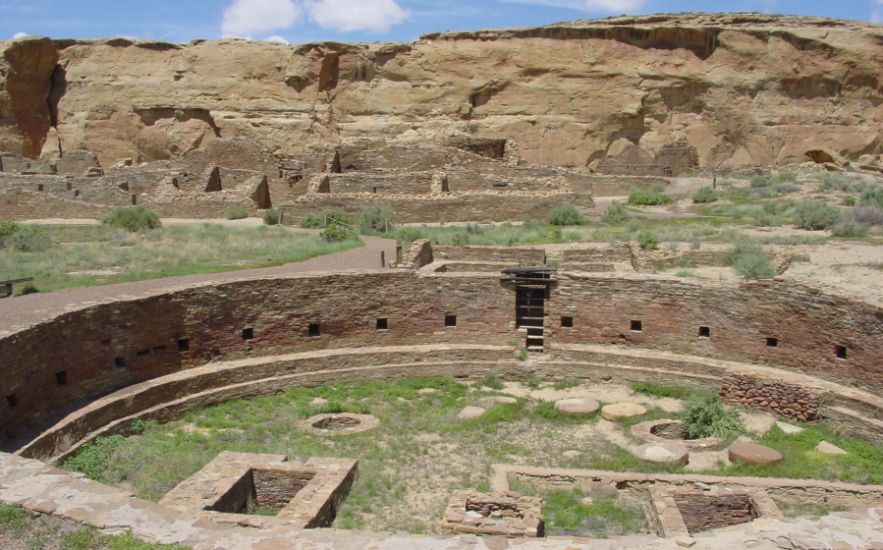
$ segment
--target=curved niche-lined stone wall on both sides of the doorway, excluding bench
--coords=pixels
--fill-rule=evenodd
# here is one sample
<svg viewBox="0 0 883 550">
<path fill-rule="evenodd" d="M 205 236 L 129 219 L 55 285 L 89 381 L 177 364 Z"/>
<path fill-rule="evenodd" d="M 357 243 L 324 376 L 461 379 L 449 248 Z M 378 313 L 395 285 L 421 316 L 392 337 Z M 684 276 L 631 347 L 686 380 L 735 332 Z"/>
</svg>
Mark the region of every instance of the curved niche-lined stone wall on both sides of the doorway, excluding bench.
<svg viewBox="0 0 883 550">
<path fill-rule="evenodd" d="M 0 340 L 0 438 L 5 448 L 18 448 L 121 388 L 201 365 L 211 377 L 206 362 L 221 357 L 441 343 L 514 351 L 524 335 L 515 328 L 512 285 L 488 273 L 309 275 L 198 286 L 64 313 Z M 560 273 L 546 304 L 550 350 L 612 343 L 773 365 L 875 393 L 883 388 L 883 311 L 791 283 Z M 456 326 L 446 327 L 451 315 Z M 572 317 L 572 328 L 561 327 L 564 316 Z M 365 363 L 368 356 L 343 354 L 335 367 L 377 364 L 376 357 Z"/>
</svg>

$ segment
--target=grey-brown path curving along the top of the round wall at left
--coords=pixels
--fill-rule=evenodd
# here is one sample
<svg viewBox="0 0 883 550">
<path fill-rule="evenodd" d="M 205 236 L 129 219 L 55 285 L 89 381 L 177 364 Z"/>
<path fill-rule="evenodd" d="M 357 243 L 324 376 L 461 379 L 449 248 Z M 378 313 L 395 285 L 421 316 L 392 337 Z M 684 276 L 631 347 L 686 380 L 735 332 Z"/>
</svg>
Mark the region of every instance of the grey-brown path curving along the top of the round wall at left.
<svg viewBox="0 0 883 550">
<path fill-rule="evenodd" d="M 365 246 L 360 248 L 276 267 L 69 288 L 45 294 L 29 294 L 2 299 L 0 300 L 0 336 L 49 320 L 65 311 L 99 303 L 162 294 L 180 287 L 258 277 L 284 277 L 297 273 L 377 270 L 383 268 L 380 262 L 381 252 L 385 254 L 387 263 L 395 261 L 395 241 L 379 237 L 362 237 L 361 239 Z"/>
</svg>

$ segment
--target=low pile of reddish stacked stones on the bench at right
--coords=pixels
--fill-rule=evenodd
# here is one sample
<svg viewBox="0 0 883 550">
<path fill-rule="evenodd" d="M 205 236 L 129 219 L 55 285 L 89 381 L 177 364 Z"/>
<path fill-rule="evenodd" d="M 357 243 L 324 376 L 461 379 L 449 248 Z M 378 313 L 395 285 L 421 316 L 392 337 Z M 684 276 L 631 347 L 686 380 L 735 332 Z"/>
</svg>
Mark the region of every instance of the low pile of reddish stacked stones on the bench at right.
<svg viewBox="0 0 883 550">
<path fill-rule="evenodd" d="M 817 420 L 824 392 L 815 388 L 737 374 L 726 378 L 720 395 L 731 405 L 753 407 L 803 422 Z"/>
</svg>

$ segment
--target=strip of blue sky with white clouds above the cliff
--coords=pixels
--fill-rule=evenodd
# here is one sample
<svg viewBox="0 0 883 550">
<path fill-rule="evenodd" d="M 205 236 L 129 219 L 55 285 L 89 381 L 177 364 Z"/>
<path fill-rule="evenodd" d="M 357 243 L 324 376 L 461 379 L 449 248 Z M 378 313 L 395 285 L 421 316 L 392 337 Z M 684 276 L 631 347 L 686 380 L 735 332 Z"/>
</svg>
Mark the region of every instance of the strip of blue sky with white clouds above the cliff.
<svg viewBox="0 0 883 550">
<path fill-rule="evenodd" d="M 542 25 L 621 13 L 761 11 L 883 22 L 883 0 L 0 0 L 0 40 L 240 36 L 413 40 L 423 33 Z"/>
</svg>

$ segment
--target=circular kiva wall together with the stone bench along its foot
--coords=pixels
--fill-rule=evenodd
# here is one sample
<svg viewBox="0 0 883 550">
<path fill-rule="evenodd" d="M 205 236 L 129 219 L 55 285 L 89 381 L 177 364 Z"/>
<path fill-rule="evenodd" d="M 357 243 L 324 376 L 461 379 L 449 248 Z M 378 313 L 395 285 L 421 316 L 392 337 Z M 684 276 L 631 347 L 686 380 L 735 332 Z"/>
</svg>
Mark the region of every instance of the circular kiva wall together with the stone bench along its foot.
<svg viewBox="0 0 883 550">
<path fill-rule="evenodd" d="M 525 367 L 513 352 L 525 333 L 515 327 L 514 285 L 493 273 L 387 270 L 198 286 L 63 313 L 0 339 L 0 441 L 19 449 L 78 411 L 69 431 L 23 453 L 55 456 L 139 410 L 279 373 L 314 374 L 189 406 L 340 378 L 492 368 L 517 376 Z M 883 311 L 790 282 L 559 272 L 545 314 L 550 372 L 585 376 L 585 366 L 568 365 L 630 361 L 625 379 L 646 376 L 643 365 L 708 381 L 736 361 L 863 388 L 865 404 L 883 394 Z M 114 407 L 90 411 L 123 388 Z"/>
</svg>

